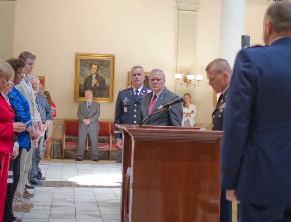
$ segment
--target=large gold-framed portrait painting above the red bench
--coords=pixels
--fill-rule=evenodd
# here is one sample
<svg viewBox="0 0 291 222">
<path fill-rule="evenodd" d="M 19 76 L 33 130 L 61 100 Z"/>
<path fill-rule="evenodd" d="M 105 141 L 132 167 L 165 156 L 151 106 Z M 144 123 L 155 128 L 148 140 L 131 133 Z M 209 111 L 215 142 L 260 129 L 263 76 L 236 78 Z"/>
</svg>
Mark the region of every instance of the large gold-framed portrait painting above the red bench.
<svg viewBox="0 0 291 222">
<path fill-rule="evenodd" d="M 74 101 L 92 90 L 94 101 L 113 102 L 114 62 L 115 55 L 76 53 Z"/>
</svg>

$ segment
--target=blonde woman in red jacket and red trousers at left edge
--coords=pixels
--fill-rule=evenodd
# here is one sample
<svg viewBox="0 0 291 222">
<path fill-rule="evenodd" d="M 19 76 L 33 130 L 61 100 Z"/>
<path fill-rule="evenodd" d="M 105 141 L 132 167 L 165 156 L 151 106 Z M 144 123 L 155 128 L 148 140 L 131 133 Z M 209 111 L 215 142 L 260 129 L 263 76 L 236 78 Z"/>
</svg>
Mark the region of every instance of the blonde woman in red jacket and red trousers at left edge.
<svg viewBox="0 0 291 222">
<path fill-rule="evenodd" d="M 13 80 L 14 71 L 7 62 L 0 60 L 0 90 Z M 0 93 L 0 219 L 3 218 L 3 209 L 6 198 L 8 168 L 10 154 L 13 152 L 14 132 L 22 132 L 26 125 L 14 122 L 14 111 Z"/>
</svg>

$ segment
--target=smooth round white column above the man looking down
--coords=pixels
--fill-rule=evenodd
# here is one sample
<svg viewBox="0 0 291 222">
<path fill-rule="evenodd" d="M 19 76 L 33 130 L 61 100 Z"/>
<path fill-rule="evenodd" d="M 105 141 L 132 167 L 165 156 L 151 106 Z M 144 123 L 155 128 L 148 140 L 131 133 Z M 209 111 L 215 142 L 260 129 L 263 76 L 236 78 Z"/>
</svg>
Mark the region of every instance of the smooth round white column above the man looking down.
<svg viewBox="0 0 291 222">
<path fill-rule="evenodd" d="M 219 57 L 233 67 L 244 34 L 245 0 L 221 0 Z"/>
</svg>

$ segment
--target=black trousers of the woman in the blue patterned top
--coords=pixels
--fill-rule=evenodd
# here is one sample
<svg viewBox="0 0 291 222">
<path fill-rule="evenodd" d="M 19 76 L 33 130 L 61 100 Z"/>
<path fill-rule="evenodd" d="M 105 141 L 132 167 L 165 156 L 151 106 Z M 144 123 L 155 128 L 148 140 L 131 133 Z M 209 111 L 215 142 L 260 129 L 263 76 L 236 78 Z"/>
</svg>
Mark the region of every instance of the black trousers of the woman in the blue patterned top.
<svg viewBox="0 0 291 222">
<path fill-rule="evenodd" d="M 13 203 L 14 193 L 19 181 L 20 158 L 22 154 L 22 149 L 23 147 L 19 147 L 18 156 L 14 160 L 10 160 L 10 165 L 12 164 L 12 171 L 13 171 L 13 183 L 7 184 L 6 199 L 5 199 L 4 214 L 3 214 L 3 221 L 5 222 L 12 222 L 16 220 L 12 212 L 12 203 Z"/>
</svg>

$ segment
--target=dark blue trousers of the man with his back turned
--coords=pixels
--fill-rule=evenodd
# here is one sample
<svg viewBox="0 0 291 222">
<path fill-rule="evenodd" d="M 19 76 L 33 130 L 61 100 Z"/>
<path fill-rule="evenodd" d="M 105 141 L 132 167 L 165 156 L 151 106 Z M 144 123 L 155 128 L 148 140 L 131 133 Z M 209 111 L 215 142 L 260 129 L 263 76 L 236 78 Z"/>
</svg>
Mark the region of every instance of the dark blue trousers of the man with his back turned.
<svg viewBox="0 0 291 222">
<path fill-rule="evenodd" d="M 291 204 L 240 204 L 242 222 L 291 222 Z"/>
</svg>

